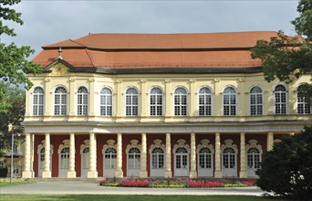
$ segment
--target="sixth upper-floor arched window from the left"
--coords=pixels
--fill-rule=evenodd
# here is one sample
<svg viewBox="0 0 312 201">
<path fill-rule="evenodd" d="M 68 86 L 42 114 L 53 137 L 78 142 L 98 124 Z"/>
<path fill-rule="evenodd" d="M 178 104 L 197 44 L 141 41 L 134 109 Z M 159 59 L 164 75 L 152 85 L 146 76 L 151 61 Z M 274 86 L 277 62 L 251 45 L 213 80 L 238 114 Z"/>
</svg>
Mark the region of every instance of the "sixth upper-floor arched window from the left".
<svg viewBox="0 0 312 201">
<path fill-rule="evenodd" d="M 162 91 L 159 88 L 151 89 L 150 115 L 162 116 Z"/>
</svg>

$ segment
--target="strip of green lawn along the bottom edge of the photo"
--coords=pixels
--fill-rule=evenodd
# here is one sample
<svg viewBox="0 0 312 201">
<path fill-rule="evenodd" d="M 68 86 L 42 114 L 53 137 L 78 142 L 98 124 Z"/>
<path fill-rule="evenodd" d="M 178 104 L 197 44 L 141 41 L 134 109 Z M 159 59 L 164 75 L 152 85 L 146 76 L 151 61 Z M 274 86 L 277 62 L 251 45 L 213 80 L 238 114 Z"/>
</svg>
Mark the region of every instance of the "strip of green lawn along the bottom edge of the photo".
<svg viewBox="0 0 312 201">
<path fill-rule="evenodd" d="M 9 200 L 30 200 L 30 201 L 51 201 L 51 200 L 62 200 L 62 201 L 92 201 L 92 200 L 107 200 L 107 201 L 258 201 L 258 200 L 272 200 L 265 197 L 259 196 L 106 196 L 106 195 L 1 195 L 1 201 Z M 276 200 L 276 199 L 273 199 Z M 278 201 L 282 201 L 278 199 Z"/>
</svg>

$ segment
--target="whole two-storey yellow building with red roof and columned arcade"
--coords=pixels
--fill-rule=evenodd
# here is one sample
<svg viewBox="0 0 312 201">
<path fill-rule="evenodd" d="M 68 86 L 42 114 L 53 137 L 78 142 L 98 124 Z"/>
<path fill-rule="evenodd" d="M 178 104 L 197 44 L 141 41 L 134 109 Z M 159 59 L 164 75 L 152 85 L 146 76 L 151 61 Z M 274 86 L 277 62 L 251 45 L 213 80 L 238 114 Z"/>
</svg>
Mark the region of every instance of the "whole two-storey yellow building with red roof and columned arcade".
<svg viewBox="0 0 312 201">
<path fill-rule="evenodd" d="M 255 177 L 273 143 L 312 124 L 297 92 L 311 77 L 267 83 L 250 58 L 272 35 L 99 34 L 44 47 L 26 93 L 23 177 Z"/>
</svg>

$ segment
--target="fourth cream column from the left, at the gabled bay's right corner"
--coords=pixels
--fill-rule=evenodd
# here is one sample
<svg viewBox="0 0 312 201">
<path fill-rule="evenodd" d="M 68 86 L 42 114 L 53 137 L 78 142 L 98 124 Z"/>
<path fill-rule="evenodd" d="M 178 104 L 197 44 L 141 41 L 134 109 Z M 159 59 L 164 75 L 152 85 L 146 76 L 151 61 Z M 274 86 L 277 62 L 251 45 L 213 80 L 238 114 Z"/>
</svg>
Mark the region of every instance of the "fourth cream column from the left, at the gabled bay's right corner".
<svg viewBox="0 0 312 201">
<path fill-rule="evenodd" d="M 97 178 L 97 141 L 95 133 L 89 132 L 89 161 L 88 161 L 88 178 Z"/>
</svg>

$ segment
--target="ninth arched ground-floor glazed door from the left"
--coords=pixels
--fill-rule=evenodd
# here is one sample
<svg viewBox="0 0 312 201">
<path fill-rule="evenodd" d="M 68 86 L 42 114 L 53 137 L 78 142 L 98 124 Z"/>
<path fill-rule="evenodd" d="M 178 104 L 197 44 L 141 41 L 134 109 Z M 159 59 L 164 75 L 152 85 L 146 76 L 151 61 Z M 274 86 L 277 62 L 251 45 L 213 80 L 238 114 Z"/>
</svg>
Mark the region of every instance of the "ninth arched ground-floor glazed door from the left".
<svg viewBox="0 0 312 201">
<path fill-rule="evenodd" d="M 236 153 L 232 147 L 225 147 L 222 157 L 223 169 L 222 173 L 224 177 L 236 177 L 237 165 L 236 165 Z"/>
</svg>

